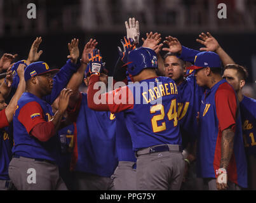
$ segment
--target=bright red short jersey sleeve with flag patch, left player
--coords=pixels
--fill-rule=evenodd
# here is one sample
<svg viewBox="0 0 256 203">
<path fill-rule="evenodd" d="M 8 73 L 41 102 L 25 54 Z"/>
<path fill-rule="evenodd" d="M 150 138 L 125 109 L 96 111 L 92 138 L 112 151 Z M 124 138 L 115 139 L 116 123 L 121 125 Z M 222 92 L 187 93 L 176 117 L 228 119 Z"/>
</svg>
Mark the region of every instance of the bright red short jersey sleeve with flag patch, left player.
<svg viewBox="0 0 256 203">
<path fill-rule="evenodd" d="M 46 122 L 44 119 L 43 109 L 36 101 L 27 103 L 24 107 L 22 107 L 22 109 L 20 109 L 18 121 L 25 126 L 27 133 L 29 134 L 37 124 Z"/>
</svg>

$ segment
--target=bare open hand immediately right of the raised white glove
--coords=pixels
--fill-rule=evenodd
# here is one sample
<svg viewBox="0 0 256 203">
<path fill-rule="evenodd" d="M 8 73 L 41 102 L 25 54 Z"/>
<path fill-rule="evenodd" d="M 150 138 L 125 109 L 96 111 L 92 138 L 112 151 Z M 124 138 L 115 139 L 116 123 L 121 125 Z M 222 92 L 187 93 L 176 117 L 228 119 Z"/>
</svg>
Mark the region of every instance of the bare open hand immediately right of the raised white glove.
<svg viewBox="0 0 256 203">
<path fill-rule="evenodd" d="M 158 34 L 158 32 L 154 34 L 150 32 L 149 34 L 147 33 L 146 36 L 147 36 L 147 39 L 142 38 L 142 41 L 144 42 L 142 46 L 146 48 L 151 48 L 154 51 L 156 51 L 156 54 L 158 54 L 159 51 L 161 51 L 161 47 L 163 46 L 162 43 L 159 44 L 162 40 L 161 34 Z"/>
</svg>

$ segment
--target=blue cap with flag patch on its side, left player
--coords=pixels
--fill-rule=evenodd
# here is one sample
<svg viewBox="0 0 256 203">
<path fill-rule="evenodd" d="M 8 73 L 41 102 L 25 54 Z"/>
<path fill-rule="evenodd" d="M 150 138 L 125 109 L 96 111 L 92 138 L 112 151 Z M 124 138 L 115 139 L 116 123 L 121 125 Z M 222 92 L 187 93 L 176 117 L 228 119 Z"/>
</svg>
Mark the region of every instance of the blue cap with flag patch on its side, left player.
<svg viewBox="0 0 256 203">
<path fill-rule="evenodd" d="M 36 75 L 43 75 L 48 72 L 51 72 L 53 74 L 57 73 L 58 69 L 50 69 L 47 63 L 44 62 L 36 62 L 31 63 L 27 66 L 24 72 L 25 81 L 28 81 L 31 77 L 34 77 Z"/>
</svg>

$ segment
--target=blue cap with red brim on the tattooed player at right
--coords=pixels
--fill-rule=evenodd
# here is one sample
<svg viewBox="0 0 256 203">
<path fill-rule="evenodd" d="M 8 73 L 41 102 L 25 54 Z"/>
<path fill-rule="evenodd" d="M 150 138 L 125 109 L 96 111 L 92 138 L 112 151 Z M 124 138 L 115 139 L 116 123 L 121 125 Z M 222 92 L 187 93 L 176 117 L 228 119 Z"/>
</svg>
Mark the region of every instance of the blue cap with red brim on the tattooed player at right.
<svg viewBox="0 0 256 203">
<path fill-rule="evenodd" d="M 203 51 L 198 53 L 194 59 L 194 65 L 187 67 L 187 70 L 203 69 L 205 67 L 221 67 L 220 56 L 212 51 Z"/>
</svg>

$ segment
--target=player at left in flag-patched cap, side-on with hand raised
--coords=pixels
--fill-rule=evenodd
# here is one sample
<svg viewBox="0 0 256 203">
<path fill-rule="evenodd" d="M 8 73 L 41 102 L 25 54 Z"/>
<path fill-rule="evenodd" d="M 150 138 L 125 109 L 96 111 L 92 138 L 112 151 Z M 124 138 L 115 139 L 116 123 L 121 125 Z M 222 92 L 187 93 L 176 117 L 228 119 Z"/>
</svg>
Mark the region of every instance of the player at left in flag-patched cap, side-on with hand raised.
<svg viewBox="0 0 256 203">
<path fill-rule="evenodd" d="M 42 100 L 53 89 L 52 73 L 47 63 L 31 63 L 24 72 L 26 92 L 17 104 L 13 119 L 13 159 L 9 175 L 18 190 L 66 190 L 55 164 L 57 136 L 62 116 L 72 91 L 60 93 L 58 112 Z M 29 174 L 29 175 L 28 175 Z"/>
</svg>

